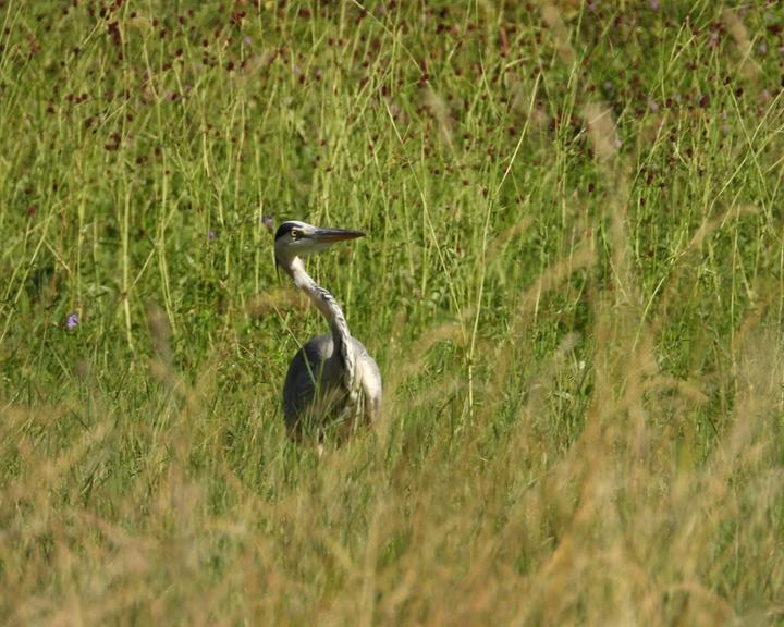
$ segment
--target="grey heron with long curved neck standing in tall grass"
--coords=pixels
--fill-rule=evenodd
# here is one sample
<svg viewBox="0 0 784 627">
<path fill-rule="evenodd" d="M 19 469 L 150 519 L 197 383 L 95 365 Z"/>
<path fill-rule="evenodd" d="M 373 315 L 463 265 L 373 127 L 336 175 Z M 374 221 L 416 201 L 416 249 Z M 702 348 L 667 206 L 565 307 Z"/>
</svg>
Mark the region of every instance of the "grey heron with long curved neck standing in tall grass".
<svg viewBox="0 0 784 627">
<path fill-rule="evenodd" d="M 371 423 L 381 407 L 381 373 L 359 340 L 348 332 L 345 316 L 332 294 L 306 272 L 303 258 L 335 242 L 365 235 L 289 221 L 275 233 L 275 262 L 307 294 L 327 319 L 330 333 L 311 337 L 289 365 L 283 384 L 283 414 L 289 433 L 345 435 Z"/>
</svg>

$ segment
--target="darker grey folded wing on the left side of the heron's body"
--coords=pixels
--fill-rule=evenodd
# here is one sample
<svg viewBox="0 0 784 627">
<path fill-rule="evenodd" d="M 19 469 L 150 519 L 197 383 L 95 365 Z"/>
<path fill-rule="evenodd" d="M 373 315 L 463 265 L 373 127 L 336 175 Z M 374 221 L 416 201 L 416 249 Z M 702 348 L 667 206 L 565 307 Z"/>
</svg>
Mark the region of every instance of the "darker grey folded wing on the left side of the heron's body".
<svg viewBox="0 0 784 627">
<path fill-rule="evenodd" d="M 317 382 L 323 383 L 324 365 L 332 348 L 330 335 L 317 335 L 297 351 L 289 365 L 283 384 L 283 415 L 289 430 L 298 429 L 301 418 L 313 406 Z"/>
</svg>

